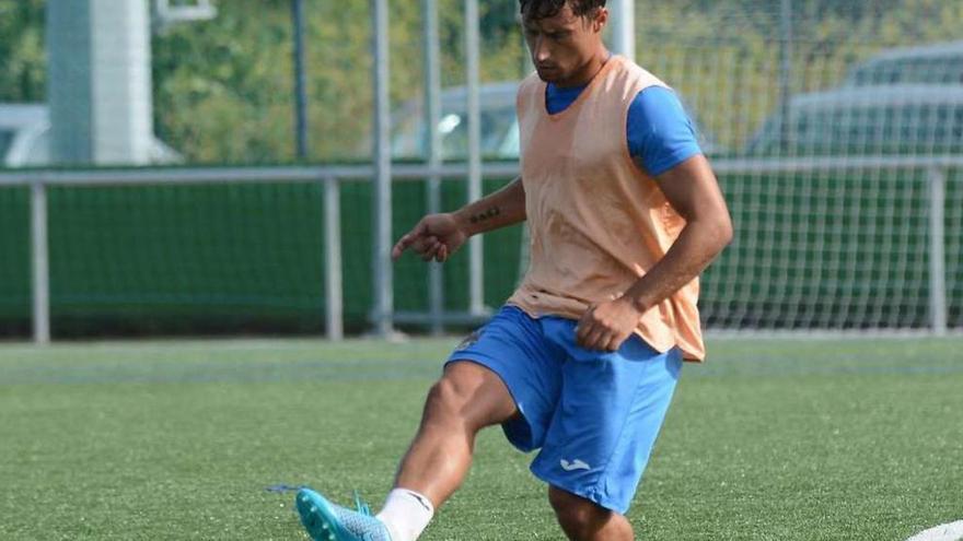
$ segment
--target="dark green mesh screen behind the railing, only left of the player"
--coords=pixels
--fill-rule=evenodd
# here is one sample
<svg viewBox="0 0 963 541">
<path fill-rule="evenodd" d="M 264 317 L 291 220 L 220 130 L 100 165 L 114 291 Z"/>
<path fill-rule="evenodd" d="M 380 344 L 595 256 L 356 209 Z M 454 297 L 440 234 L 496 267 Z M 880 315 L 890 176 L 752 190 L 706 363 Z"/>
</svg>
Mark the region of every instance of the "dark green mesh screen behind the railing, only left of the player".
<svg viewBox="0 0 963 541">
<path fill-rule="evenodd" d="M 488 181 L 494 191 L 503 181 Z M 426 211 L 426 183 L 396 183 L 394 231 Z M 466 195 L 444 183 L 448 208 Z M 340 193 L 345 326 L 367 328 L 371 296 L 371 190 Z M 320 184 L 53 187 L 48 191 L 50 314 L 56 336 L 324 329 L 324 190 Z M 521 228 L 486 238 L 486 304 L 514 287 Z M 0 190 L 0 318 L 27 332 L 30 200 Z M 444 266 L 445 308 L 467 308 L 467 252 Z M 395 307 L 425 311 L 425 263 L 395 264 Z"/>
</svg>

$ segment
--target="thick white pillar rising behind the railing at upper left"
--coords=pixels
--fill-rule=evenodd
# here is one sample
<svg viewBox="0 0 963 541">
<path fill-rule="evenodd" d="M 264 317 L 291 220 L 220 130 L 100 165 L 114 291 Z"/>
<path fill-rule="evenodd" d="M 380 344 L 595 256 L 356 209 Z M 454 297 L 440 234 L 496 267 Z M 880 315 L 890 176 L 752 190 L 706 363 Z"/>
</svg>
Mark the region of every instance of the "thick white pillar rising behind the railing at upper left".
<svg viewBox="0 0 963 541">
<path fill-rule="evenodd" d="M 49 99 L 57 162 L 150 162 L 148 0 L 49 0 Z"/>
</svg>

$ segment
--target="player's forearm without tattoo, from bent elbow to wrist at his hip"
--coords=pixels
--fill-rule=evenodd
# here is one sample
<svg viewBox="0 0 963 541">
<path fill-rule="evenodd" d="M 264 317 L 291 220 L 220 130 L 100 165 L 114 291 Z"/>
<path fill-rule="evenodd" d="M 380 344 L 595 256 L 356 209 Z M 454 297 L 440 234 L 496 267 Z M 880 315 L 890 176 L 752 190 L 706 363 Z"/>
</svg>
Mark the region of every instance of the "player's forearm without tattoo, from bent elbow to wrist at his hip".
<svg viewBox="0 0 963 541">
<path fill-rule="evenodd" d="M 731 225 L 689 222 L 649 272 L 623 295 L 640 313 L 648 311 L 696 279 L 732 239 Z"/>
</svg>

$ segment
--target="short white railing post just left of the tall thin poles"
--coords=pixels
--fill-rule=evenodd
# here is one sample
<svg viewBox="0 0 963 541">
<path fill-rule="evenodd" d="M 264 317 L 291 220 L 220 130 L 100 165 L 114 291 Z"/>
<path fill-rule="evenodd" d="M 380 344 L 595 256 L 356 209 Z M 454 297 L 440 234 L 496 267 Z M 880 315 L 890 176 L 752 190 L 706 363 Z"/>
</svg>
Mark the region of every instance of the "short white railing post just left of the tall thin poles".
<svg viewBox="0 0 963 541">
<path fill-rule="evenodd" d="M 324 289 L 327 298 L 325 327 L 329 340 L 345 338 L 344 297 L 341 281 L 341 198 L 338 179 L 324 179 Z"/>
</svg>

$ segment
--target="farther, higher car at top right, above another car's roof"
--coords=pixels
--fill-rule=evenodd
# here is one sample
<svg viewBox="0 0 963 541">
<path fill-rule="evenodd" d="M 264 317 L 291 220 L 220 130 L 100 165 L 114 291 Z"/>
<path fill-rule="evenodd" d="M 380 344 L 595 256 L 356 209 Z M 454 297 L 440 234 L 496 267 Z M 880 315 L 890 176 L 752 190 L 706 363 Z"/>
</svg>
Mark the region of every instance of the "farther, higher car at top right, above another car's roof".
<svg viewBox="0 0 963 541">
<path fill-rule="evenodd" d="M 963 40 L 886 49 L 849 71 L 843 86 L 963 85 Z"/>
</svg>

